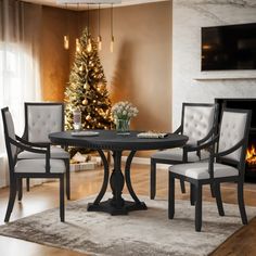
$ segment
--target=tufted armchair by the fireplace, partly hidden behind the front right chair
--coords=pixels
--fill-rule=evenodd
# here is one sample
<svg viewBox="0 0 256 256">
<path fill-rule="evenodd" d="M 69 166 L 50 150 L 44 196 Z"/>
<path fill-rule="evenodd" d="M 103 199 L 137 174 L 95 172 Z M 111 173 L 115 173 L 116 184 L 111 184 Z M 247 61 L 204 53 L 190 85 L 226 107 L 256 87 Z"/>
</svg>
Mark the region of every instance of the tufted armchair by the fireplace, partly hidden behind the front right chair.
<svg viewBox="0 0 256 256">
<path fill-rule="evenodd" d="M 151 199 L 156 193 L 156 164 L 176 165 L 188 162 L 197 162 L 205 157 L 201 151 L 190 151 L 190 146 L 196 146 L 209 140 L 217 125 L 218 104 L 183 103 L 181 125 L 175 133 L 189 137 L 182 149 L 158 151 L 151 156 Z M 204 153 L 205 154 L 205 153 Z M 202 157 L 203 156 L 203 157 Z M 207 157 L 207 156 L 206 156 Z M 184 182 L 180 182 L 182 193 L 185 192 Z"/>
</svg>

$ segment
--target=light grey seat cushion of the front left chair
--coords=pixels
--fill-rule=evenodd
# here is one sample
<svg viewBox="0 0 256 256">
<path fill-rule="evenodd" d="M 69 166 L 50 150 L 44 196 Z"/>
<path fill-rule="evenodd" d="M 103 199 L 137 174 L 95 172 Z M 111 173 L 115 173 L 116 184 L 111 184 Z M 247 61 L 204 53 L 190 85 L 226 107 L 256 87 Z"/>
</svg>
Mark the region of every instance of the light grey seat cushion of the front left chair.
<svg viewBox="0 0 256 256">
<path fill-rule="evenodd" d="M 64 174 L 65 164 L 62 159 L 51 159 L 50 161 L 50 172 L 51 174 Z M 46 172 L 46 159 L 21 159 L 17 161 L 15 166 L 15 172 L 18 174 L 43 174 Z"/>
</svg>

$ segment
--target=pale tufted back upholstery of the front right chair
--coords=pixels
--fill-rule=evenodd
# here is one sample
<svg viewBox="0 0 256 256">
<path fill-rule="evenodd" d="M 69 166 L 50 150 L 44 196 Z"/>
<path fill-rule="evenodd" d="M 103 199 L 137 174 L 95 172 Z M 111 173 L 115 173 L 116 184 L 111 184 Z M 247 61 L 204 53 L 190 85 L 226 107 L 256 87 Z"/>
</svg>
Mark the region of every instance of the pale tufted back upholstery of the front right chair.
<svg viewBox="0 0 256 256">
<path fill-rule="evenodd" d="M 221 128 L 219 132 L 219 152 L 229 150 L 230 148 L 235 145 L 241 139 L 244 138 L 244 124 L 246 121 L 246 113 L 223 112 Z M 241 149 L 225 156 L 225 158 L 230 158 L 234 161 L 240 161 L 240 157 Z"/>
</svg>

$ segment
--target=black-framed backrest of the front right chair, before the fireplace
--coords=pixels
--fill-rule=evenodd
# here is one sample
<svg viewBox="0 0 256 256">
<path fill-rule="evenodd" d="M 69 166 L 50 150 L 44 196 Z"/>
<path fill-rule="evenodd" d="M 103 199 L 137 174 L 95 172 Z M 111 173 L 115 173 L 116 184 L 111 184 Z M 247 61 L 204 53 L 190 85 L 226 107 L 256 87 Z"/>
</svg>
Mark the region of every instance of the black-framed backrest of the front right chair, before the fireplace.
<svg viewBox="0 0 256 256">
<path fill-rule="evenodd" d="M 251 127 L 252 111 L 248 110 L 231 110 L 223 108 L 219 127 L 219 143 L 218 152 L 223 152 L 241 140 L 244 140 L 243 145 L 232 153 L 219 157 L 217 162 L 233 162 L 235 164 L 245 163 L 245 154 L 247 149 L 248 133 Z"/>
</svg>

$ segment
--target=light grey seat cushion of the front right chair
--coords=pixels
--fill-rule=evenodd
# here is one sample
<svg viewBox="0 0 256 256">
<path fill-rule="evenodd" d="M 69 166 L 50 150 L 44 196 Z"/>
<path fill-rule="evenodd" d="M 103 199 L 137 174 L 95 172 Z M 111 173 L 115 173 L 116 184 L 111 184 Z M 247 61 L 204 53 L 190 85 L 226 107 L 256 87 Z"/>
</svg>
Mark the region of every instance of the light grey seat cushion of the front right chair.
<svg viewBox="0 0 256 256">
<path fill-rule="evenodd" d="M 196 180 L 209 179 L 207 162 L 174 165 L 169 167 L 169 171 Z M 218 163 L 214 164 L 215 178 L 231 177 L 238 175 L 239 170 L 232 166 Z"/>
</svg>

